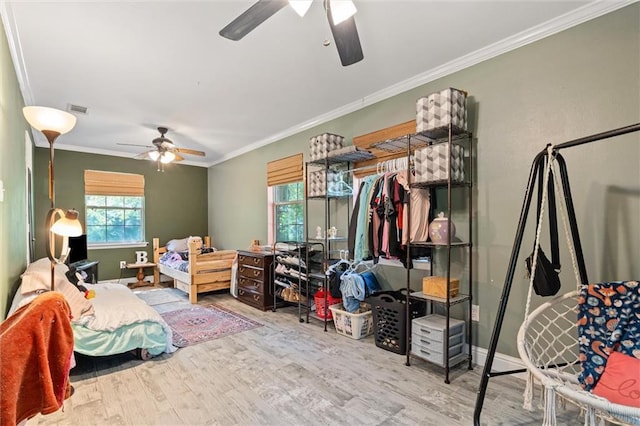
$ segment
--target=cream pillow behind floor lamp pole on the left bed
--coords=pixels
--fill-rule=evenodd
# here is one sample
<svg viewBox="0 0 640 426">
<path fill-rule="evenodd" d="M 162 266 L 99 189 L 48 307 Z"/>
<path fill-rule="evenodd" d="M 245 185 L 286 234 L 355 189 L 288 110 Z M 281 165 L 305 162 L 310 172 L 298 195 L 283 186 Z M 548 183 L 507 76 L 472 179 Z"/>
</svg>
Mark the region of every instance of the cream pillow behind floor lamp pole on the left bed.
<svg viewBox="0 0 640 426">
<path fill-rule="evenodd" d="M 57 264 L 54 273 L 54 290 L 64 295 L 71 308 L 72 320 L 78 320 L 84 315 L 93 315 L 93 305 L 84 298 L 84 293 L 71 284 L 65 272 L 69 267 Z M 51 261 L 48 258 L 38 259 L 27 266 L 21 275 L 20 292 L 23 295 L 51 290 Z"/>
</svg>

